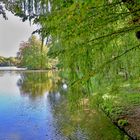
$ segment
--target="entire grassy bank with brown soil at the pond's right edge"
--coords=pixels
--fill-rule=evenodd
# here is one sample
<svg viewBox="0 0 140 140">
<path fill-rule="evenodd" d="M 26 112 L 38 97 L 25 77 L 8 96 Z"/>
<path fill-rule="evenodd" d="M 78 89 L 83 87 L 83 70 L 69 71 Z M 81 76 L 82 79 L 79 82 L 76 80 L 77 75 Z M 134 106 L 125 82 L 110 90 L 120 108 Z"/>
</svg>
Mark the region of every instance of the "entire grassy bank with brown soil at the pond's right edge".
<svg viewBox="0 0 140 140">
<path fill-rule="evenodd" d="M 140 84 L 122 83 L 117 91 L 97 93 L 96 103 L 120 129 L 140 140 Z"/>
</svg>

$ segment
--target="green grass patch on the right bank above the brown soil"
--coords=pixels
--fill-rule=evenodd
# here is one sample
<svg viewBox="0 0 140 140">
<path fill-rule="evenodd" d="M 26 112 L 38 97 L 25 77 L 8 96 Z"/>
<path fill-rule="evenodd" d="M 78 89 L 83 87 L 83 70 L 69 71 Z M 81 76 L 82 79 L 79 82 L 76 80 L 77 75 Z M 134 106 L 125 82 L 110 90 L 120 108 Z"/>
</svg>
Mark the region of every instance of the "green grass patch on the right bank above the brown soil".
<svg viewBox="0 0 140 140">
<path fill-rule="evenodd" d="M 109 89 L 97 96 L 95 98 L 98 98 L 96 103 L 99 107 L 112 120 L 117 120 L 121 115 L 128 114 L 135 106 L 140 106 L 140 85 L 139 83 L 124 83 L 117 92 Z"/>
</svg>

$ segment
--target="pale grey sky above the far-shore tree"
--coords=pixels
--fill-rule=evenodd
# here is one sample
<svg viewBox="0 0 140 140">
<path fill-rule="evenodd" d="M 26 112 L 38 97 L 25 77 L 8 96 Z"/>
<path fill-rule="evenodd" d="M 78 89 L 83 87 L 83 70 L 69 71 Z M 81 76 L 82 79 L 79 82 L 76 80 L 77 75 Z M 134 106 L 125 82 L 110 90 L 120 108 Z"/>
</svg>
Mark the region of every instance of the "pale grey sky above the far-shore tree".
<svg viewBox="0 0 140 140">
<path fill-rule="evenodd" d="M 11 12 L 6 12 L 8 20 L 0 15 L 0 56 L 16 56 L 19 44 L 27 41 L 37 26 L 30 26 L 29 21 L 22 22 Z"/>
</svg>

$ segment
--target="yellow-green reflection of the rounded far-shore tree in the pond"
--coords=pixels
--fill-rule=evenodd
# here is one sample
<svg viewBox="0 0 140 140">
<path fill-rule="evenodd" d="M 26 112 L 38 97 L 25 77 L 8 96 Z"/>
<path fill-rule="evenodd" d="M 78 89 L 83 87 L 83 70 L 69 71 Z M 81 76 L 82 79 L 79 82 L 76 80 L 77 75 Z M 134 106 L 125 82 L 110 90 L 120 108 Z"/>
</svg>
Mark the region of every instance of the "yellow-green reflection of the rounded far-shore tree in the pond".
<svg viewBox="0 0 140 140">
<path fill-rule="evenodd" d="M 32 98 L 43 96 L 44 93 L 56 92 L 60 78 L 57 72 L 23 72 L 18 80 L 21 95 L 28 95 Z"/>
</svg>

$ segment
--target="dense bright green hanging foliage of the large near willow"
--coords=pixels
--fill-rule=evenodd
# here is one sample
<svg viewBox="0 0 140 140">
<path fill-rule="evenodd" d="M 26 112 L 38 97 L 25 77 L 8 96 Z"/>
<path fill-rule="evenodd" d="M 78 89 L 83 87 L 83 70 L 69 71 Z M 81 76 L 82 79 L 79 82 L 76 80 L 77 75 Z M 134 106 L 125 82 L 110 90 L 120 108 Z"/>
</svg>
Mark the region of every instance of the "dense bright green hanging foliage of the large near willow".
<svg viewBox="0 0 140 140">
<path fill-rule="evenodd" d="M 92 93 L 91 83 L 103 88 L 139 76 L 140 27 L 129 23 L 132 18 L 124 3 L 73 2 L 54 8 L 41 22 L 52 35 L 50 54 L 59 58 L 70 84 L 90 86 Z"/>
</svg>

